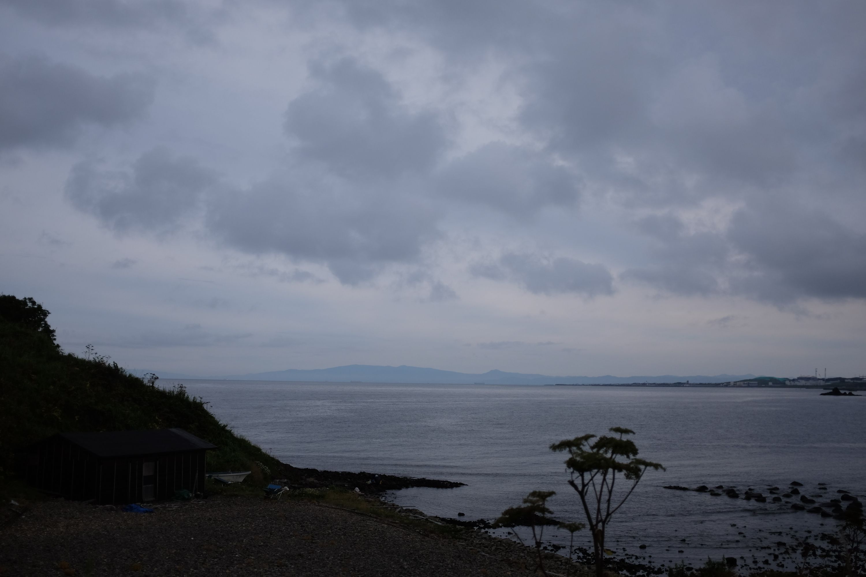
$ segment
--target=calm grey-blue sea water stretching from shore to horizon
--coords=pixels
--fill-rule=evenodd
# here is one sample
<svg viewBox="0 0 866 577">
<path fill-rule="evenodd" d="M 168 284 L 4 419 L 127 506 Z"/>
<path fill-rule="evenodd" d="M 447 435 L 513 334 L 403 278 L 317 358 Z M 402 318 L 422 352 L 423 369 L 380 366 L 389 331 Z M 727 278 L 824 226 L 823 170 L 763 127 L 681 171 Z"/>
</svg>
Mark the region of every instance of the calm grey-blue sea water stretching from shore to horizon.
<svg viewBox="0 0 866 577">
<path fill-rule="evenodd" d="M 549 502 L 557 518 L 579 521 L 564 456 L 547 446 L 629 427 L 637 432 L 640 456 L 667 471 L 643 478 L 614 516 L 608 546 L 657 565 L 722 555 L 751 565 L 770 555 L 762 547 L 835 526 L 788 504 L 663 485 L 734 485 L 766 495 L 769 486 L 784 489 L 797 480 L 804 494 L 828 494 L 819 502 L 838 497 L 837 489 L 866 493 L 866 396 L 754 388 L 183 383 L 210 401 L 220 420 L 292 465 L 466 483 L 390 496 L 430 515 L 456 517 L 459 511 L 466 519 L 492 520 L 540 489 L 557 491 Z M 576 545 L 591 543 L 585 532 L 577 535 Z M 559 543 L 566 538 L 555 530 L 548 536 Z"/>
</svg>

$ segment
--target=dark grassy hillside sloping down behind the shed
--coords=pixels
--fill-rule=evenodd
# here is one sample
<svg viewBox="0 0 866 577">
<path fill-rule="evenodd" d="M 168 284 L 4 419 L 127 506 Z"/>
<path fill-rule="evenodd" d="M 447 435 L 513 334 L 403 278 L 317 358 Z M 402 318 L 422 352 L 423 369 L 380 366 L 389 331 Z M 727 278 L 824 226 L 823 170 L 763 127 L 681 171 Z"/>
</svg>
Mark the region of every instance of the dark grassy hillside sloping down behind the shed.
<svg viewBox="0 0 866 577">
<path fill-rule="evenodd" d="M 256 463 L 280 470 L 184 388 L 164 390 L 99 356 L 64 353 L 45 317 L 31 299 L 0 295 L 0 484 L 10 478 L 16 450 L 51 434 L 173 426 L 219 447 L 207 453 L 209 471 L 252 470 L 260 480 Z"/>
</svg>

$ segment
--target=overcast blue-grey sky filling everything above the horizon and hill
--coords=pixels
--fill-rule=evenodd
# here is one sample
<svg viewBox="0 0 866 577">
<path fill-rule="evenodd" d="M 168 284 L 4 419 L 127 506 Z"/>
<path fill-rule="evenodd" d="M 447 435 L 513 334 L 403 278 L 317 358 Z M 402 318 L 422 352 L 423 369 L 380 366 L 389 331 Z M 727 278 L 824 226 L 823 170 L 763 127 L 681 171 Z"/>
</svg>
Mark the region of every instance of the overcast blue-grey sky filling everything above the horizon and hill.
<svg viewBox="0 0 866 577">
<path fill-rule="evenodd" d="M 197 375 L 860 375 L 864 29 L 860 0 L 0 0 L 0 292 Z"/>
</svg>

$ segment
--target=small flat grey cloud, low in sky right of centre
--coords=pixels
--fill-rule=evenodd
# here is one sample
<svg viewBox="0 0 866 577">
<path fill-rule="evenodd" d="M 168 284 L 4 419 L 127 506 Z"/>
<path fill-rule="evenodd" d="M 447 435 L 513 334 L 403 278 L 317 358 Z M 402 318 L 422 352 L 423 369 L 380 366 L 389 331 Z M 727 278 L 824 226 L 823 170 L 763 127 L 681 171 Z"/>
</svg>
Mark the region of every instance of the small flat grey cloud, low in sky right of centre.
<svg viewBox="0 0 866 577">
<path fill-rule="evenodd" d="M 573 292 L 585 297 L 613 294 L 613 276 L 604 265 L 565 257 L 504 253 L 493 263 L 471 266 L 470 272 L 488 279 L 511 280 L 535 294 Z"/>
</svg>

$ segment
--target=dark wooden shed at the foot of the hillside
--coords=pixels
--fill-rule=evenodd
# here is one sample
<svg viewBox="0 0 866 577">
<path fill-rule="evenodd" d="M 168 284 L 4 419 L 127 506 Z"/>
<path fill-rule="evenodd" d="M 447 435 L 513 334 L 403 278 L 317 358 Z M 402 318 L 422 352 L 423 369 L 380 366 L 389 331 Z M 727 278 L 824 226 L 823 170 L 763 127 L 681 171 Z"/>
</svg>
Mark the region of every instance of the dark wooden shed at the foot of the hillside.
<svg viewBox="0 0 866 577">
<path fill-rule="evenodd" d="M 29 447 L 23 478 L 68 499 L 139 503 L 204 490 L 204 452 L 183 429 L 59 433 Z"/>
</svg>

